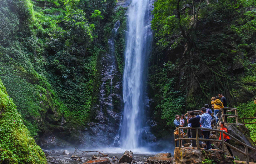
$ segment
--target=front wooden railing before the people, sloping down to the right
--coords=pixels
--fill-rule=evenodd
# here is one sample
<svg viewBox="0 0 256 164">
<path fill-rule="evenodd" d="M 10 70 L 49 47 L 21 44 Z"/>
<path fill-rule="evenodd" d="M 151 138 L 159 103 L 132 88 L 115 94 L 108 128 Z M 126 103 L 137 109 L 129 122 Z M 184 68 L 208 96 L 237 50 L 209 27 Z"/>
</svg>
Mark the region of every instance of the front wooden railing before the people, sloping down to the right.
<svg viewBox="0 0 256 164">
<path fill-rule="evenodd" d="M 196 130 L 196 138 L 181 138 L 181 129 L 195 129 Z M 198 131 L 199 130 L 205 130 L 205 131 L 215 131 L 215 132 L 220 132 L 220 135 L 221 135 L 221 140 L 213 140 L 213 139 L 205 139 L 205 138 L 199 138 L 198 137 Z M 175 147 L 177 147 L 177 143 L 176 141 L 179 141 L 179 147 L 181 147 L 181 142 L 182 140 L 196 140 L 196 149 L 200 149 L 199 147 L 199 141 L 211 141 L 211 142 L 221 142 L 222 143 L 222 150 L 225 152 L 225 145 L 231 147 L 232 149 L 235 149 L 236 151 L 242 153 L 243 155 L 246 156 L 246 163 L 249 163 L 249 152 L 248 152 L 248 148 L 255 151 L 256 152 L 256 149 L 254 147 L 251 147 L 245 143 L 243 143 L 242 141 L 239 141 L 238 139 L 236 139 L 235 137 L 233 137 L 232 135 L 228 134 L 227 132 L 223 132 L 221 130 L 218 130 L 218 129 L 208 129 L 208 128 L 192 128 L 192 127 L 180 127 L 178 129 L 175 129 L 175 131 L 178 131 L 178 138 L 176 138 L 176 135 L 174 135 L 174 140 L 175 140 Z M 245 148 L 245 152 L 243 152 L 242 150 L 232 146 L 231 144 L 229 143 L 226 143 L 224 141 L 224 135 L 227 135 L 229 137 L 231 137 L 233 140 L 237 141 L 238 143 L 242 144 Z"/>
</svg>

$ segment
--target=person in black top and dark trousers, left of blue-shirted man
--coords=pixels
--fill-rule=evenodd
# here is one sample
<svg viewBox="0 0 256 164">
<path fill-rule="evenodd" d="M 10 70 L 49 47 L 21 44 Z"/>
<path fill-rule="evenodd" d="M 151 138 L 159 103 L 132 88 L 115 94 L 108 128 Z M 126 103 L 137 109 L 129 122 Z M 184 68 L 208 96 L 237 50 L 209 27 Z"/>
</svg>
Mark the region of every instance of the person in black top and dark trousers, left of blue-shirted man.
<svg viewBox="0 0 256 164">
<path fill-rule="evenodd" d="M 195 113 L 193 111 L 189 112 L 189 115 L 192 118 L 187 118 L 187 123 L 191 123 L 191 127 L 200 127 L 200 116 L 195 116 Z M 191 129 L 192 138 L 196 138 L 196 129 Z M 202 138 L 202 132 L 201 130 L 198 130 L 198 137 Z M 201 146 L 202 141 L 199 141 L 199 145 Z M 192 147 L 195 149 L 196 147 L 196 140 L 192 140 Z"/>
</svg>

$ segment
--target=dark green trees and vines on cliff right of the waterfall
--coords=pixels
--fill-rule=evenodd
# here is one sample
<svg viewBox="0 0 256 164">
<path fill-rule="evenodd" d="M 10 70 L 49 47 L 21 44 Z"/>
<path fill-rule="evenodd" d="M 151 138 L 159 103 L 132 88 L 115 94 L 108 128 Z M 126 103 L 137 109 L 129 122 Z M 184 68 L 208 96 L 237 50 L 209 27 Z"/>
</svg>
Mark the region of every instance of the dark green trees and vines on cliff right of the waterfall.
<svg viewBox="0 0 256 164">
<path fill-rule="evenodd" d="M 229 107 L 238 106 L 239 117 L 255 117 L 255 5 L 254 0 L 154 3 L 148 87 L 156 131 L 173 128 L 175 114 L 200 109 L 219 93 Z"/>
</svg>

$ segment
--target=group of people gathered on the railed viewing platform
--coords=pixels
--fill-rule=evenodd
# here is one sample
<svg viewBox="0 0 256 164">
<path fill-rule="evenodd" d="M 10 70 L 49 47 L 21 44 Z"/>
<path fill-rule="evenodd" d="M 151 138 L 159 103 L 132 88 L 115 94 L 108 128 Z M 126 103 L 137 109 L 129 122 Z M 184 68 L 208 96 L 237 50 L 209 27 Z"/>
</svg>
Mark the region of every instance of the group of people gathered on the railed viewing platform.
<svg viewBox="0 0 256 164">
<path fill-rule="evenodd" d="M 220 99 L 221 98 L 221 99 Z M 199 111 L 198 115 L 195 115 L 195 112 L 191 111 L 185 115 L 179 116 L 178 114 L 175 115 L 175 120 L 173 121 L 176 128 L 184 127 L 185 120 L 187 119 L 188 127 L 202 127 L 202 128 L 208 128 L 212 129 L 211 122 L 212 119 L 215 118 L 216 122 L 218 122 L 218 116 L 220 109 L 227 107 L 227 99 L 222 95 L 219 94 L 216 97 L 211 98 L 212 107 L 214 109 L 214 115 L 212 110 L 210 109 L 210 106 L 208 104 L 205 104 L 205 107 L 201 108 L 201 111 Z M 224 109 L 224 113 L 226 113 L 227 110 Z M 188 115 L 186 117 L 186 115 Z M 225 117 L 227 122 L 227 117 Z M 219 126 L 221 126 L 221 130 L 228 132 L 227 128 L 224 126 L 224 122 L 220 122 Z M 196 138 L 196 130 L 195 129 L 188 129 L 187 131 L 189 138 Z M 178 134 L 178 131 L 176 131 L 174 134 Z M 183 135 L 185 135 L 184 131 L 181 130 L 181 138 L 183 138 Z M 210 131 L 208 130 L 199 130 L 198 131 L 198 137 L 202 138 L 202 135 L 205 139 L 209 139 L 210 137 Z M 219 137 L 219 140 L 221 140 L 221 136 Z M 230 138 L 224 134 L 224 141 L 229 143 Z M 210 141 L 206 141 L 206 148 L 204 149 L 212 149 Z M 199 141 L 199 146 L 201 147 L 202 141 Z M 192 149 L 195 149 L 196 147 L 196 140 L 192 140 Z M 181 142 L 181 147 L 184 147 Z M 233 156 L 233 153 L 230 150 L 230 147 L 227 146 L 228 151 L 230 152 L 231 156 Z"/>
</svg>

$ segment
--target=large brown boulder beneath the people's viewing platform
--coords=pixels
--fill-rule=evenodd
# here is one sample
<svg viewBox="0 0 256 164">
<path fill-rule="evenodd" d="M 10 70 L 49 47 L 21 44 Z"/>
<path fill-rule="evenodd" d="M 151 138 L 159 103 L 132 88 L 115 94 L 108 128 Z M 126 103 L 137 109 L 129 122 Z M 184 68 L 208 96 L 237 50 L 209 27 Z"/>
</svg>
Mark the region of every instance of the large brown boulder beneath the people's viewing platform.
<svg viewBox="0 0 256 164">
<path fill-rule="evenodd" d="M 206 159 L 216 164 L 233 164 L 234 158 L 225 156 L 222 150 L 204 150 L 175 147 L 174 158 L 176 164 L 202 164 Z"/>
</svg>

